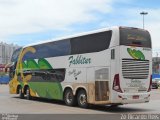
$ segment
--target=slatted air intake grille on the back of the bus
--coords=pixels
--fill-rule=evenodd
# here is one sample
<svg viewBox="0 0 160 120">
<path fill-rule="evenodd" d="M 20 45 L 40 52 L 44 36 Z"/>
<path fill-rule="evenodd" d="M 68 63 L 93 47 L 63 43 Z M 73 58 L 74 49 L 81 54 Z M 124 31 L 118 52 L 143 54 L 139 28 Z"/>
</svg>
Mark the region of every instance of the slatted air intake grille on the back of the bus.
<svg viewBox="0 0 160 120">
<path fill-rule="evenodd" d="M 122 74 L 126 79 L 147 79 L 149 60 L 122 59 Z"/>
</svg>

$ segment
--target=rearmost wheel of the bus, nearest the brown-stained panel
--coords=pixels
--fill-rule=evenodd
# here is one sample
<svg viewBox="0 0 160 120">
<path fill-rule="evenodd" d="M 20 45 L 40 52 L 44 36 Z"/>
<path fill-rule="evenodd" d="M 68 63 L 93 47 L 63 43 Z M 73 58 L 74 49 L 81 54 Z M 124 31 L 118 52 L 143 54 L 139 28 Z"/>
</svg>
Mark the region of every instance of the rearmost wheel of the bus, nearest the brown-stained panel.
<svg viewBox="0 0 160 120">
<path fill-rule="evenodd" d="M 82 107 L 82 108 L 87 108 L 88 107 L 87 94 L 86 94 L 85 90 L 80 90 L 78 92 L 77 101 L 78 101 L 79 107 Z"/>
</svg>

